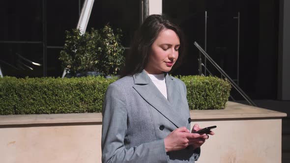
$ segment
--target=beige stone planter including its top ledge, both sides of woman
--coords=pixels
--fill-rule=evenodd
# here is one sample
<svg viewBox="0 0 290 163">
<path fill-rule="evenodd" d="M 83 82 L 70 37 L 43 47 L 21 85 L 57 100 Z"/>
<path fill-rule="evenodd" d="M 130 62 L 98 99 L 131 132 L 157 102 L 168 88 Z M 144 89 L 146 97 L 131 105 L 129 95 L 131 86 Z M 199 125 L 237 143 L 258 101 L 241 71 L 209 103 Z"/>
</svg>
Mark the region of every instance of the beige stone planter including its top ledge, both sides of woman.
<svg viewBox="0 0 290 163">
<path fill-rule="evenodd" d="M 197 163 L 281 163 L 286 113 L 233 102 L 190 113 L 192 126 L 217 126 Z M 1 163 L 101 163 L 101 129 L 101 113 L 2 115 Z"/>
</svg>

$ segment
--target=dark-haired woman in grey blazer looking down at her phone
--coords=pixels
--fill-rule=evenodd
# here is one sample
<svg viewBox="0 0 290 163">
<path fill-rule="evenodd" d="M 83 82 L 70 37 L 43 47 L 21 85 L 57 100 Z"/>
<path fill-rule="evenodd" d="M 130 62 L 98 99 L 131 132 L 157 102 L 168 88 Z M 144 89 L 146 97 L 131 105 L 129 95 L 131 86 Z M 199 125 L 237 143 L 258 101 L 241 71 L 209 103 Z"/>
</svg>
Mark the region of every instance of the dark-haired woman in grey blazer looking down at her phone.
<svg viewBox="0 0 290 163">
<path fill-rule="evenodd" d="M 198 124 L 189 131 L 186 87 L 168 75 L 183 54 L 180 29 L 161 15 L 149 16 L 135 35 L 123 78 L 106 91 L 103 163 L 193 163 L 198 159 L 208 136 L 194 134 L 200 130 Z"/>
</svg>

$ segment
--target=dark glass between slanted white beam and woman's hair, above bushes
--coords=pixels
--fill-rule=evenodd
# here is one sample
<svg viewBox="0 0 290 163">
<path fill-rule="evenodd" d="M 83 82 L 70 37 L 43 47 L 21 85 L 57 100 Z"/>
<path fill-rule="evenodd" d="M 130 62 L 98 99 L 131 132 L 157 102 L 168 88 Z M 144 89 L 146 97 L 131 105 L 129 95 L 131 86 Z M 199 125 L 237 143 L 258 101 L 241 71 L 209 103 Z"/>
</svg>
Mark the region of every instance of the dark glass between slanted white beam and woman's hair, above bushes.
<svg viewBox="0 0 290 163">
<path fill-rule="evenodd" d="M 99 29 L 109 24 L 113 29 L 122 29 L 122 44 L 130 46 L 134 31 L 140 25 L 139 0 L 95 0 L 87 30 Z"/>
</svg>

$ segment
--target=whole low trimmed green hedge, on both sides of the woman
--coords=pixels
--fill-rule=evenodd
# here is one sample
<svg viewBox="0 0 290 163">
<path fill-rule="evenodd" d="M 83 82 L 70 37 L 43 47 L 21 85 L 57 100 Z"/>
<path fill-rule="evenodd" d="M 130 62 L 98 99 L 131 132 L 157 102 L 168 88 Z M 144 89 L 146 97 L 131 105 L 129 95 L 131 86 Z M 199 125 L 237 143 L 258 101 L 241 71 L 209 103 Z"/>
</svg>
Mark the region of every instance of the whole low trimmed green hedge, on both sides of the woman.
<svg viewBox="0 0 290 163">
<path fill-rule="evenodd" d="M 223 109 L 229 82 L 214 77 L 180 77 L 191 109 Z M 101 112 L 105 91 L 116 79 L 0 78 L 0 114 Z"/>
</svg>

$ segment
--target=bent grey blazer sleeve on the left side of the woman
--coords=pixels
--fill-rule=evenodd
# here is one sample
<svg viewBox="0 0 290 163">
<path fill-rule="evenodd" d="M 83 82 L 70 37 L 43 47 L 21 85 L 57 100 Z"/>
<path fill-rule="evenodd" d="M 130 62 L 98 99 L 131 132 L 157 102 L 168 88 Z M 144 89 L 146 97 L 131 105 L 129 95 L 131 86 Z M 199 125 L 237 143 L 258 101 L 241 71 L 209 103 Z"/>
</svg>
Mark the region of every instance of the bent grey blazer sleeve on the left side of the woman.
<svg viewBox="0 0 290 163">
<path fill-rule="evenodd" d="M 103 103 L 103 163 L 167 163 L 164 139 L 126 148 L 126 101 L 120 88 L 110 84 Z"/>
</svg>

